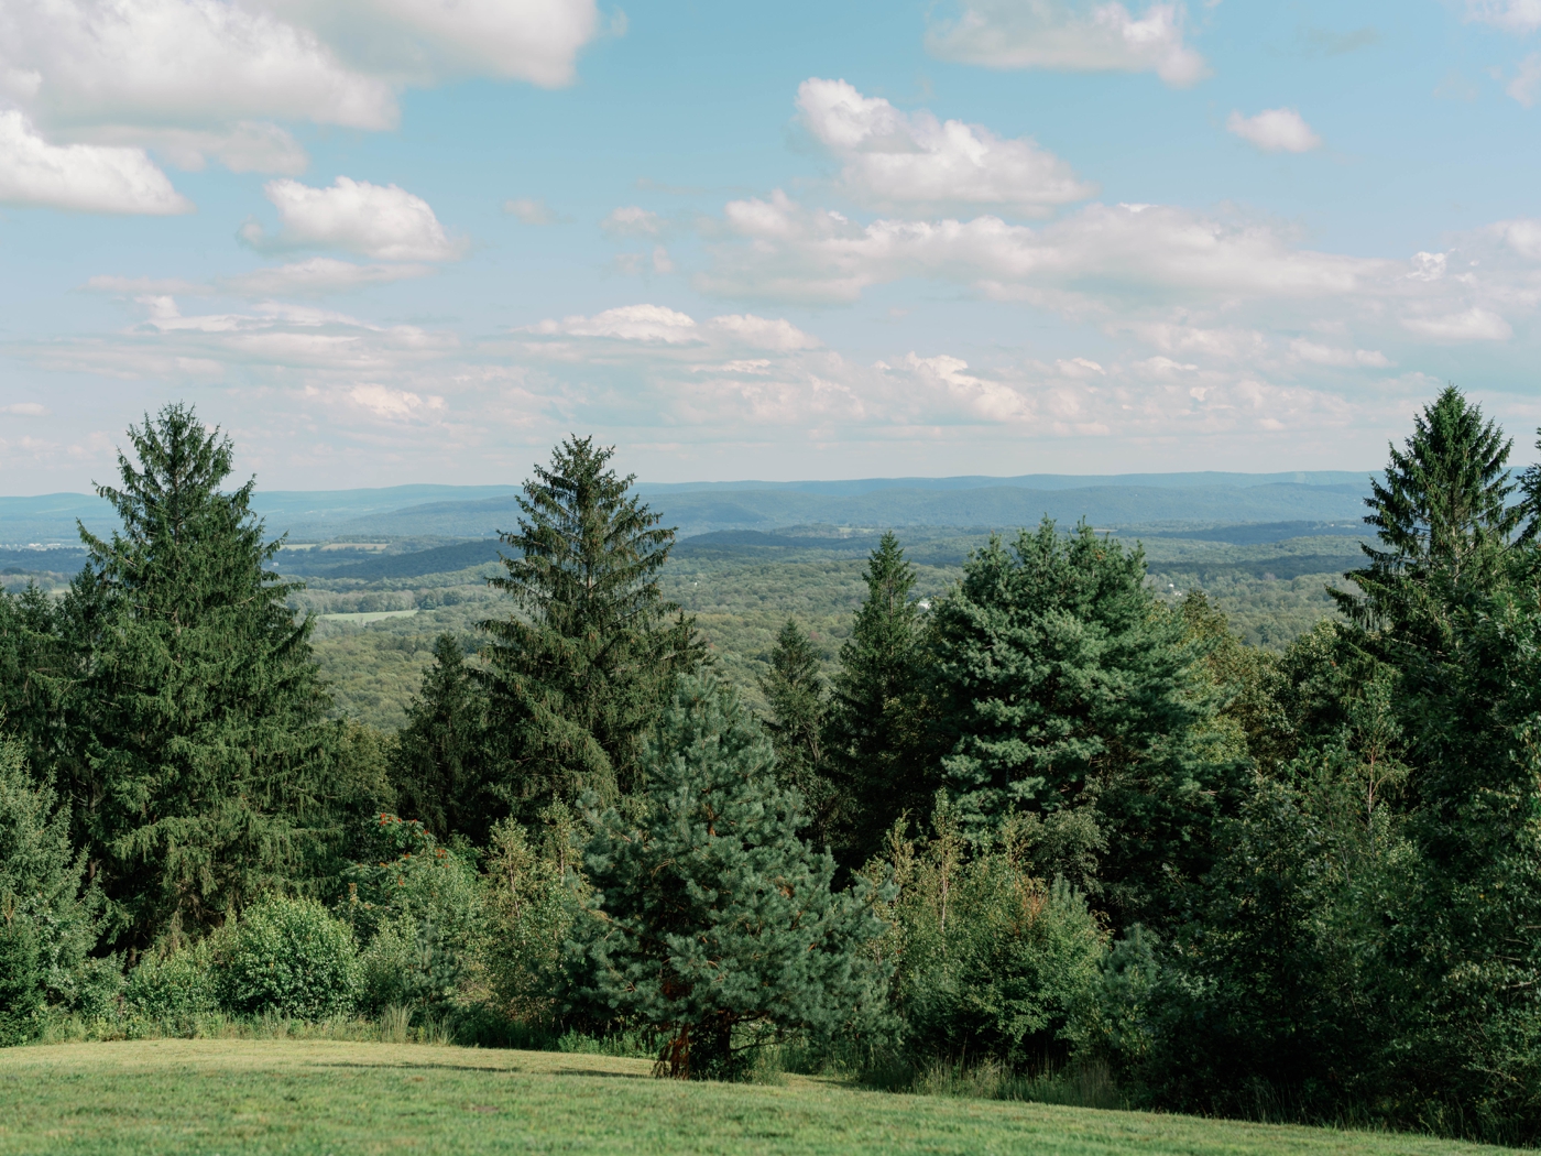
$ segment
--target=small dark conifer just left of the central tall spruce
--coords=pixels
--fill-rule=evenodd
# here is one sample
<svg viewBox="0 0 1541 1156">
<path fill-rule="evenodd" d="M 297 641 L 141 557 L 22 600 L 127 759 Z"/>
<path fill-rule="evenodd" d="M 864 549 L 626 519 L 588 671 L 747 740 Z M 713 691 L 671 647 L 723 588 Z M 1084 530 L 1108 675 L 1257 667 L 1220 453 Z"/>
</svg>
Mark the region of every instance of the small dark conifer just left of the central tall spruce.
<svg viewBox="0 0 1541 1156">
<path fill-rule="evenodd" d="M 441 840 L 459 834 L 485 843 L 507 809 L 485 789 L 487 697 L 455 635 L 433 644 L 433 664 L 396 735 L 390 775 L 396 809 Z"/>
</svg>

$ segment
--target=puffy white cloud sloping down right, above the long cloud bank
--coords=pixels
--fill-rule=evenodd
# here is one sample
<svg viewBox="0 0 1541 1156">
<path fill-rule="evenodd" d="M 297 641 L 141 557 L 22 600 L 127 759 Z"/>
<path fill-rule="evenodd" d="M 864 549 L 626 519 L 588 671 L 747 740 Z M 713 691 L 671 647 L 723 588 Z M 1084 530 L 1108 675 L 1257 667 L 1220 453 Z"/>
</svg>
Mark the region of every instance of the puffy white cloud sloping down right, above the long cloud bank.
<svg viewBox="0 0 1541 1156">
<path fill-rule="evenodd" d="M 1028 137 L 1003 140 L 982 125 L 906 114 L 844 80 L 804 80 L 797 106 L 809 133 L 840 160 L 841 190 L 865 205 L 1002 207 L 1046 216 L 1097 191 Z"/>
</svg>

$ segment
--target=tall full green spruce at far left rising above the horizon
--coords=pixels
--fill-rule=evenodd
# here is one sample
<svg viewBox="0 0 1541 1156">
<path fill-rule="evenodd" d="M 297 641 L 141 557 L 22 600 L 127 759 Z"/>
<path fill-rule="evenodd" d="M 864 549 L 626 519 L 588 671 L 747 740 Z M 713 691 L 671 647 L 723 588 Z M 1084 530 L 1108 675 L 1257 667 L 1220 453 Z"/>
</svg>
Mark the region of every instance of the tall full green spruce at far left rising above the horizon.
<svg viewBox="0 0 1541 1156">
<path fill-rule="evenodd" d="M 231 493 L 233 444 L 190 405 L 129 427 L 137 465 L 99 486 L 122 519 L 80 530 L 91 561 L 74 621 L 89 667 L 71 698 L 85 734 L 71 783 L 108 942 L 142 948 L 220 923 L 282 888 L 314 849 L 334 729 L 280 543 Z M 68 632 L 66 630 L 66 632 Z"/>
</svg>

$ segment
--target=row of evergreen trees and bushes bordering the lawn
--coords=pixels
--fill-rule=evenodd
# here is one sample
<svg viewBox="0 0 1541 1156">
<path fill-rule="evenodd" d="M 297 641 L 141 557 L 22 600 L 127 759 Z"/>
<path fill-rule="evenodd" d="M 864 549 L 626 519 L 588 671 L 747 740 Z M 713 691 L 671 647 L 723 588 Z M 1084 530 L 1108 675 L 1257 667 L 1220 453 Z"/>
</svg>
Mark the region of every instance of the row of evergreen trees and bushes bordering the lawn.
<svg viewBox="0 0 1541 1156">
<path fill-rule="evenodd" d="M 777 1045 L 1541 1136 L 1541 476 L 1455 388 L 1373 487 L 1344 623 L 1282 654 L 1085 526 L 928 601 L 886 536 L 835 677 L 787 623 L 763 718 L 573 439 L 507 610 L 441 640 L 390 740 L 324 720 L 228 441 L 180 407 L 131 438 L 123 530 L 63 600 L 0 603 L 11 1037 L 390 1011 L 678 1076 Z"/>
</svg>

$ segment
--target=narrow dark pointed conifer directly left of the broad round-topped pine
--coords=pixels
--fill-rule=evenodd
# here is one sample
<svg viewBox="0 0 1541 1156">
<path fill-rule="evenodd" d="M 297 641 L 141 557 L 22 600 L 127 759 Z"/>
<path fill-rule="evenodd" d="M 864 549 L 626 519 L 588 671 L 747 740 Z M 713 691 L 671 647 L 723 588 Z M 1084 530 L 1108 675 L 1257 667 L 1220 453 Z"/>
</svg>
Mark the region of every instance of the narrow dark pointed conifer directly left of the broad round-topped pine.
<svg viewBox="0 0 1541 1156">
<path fill-rule="evenodd" d="M 929 814 L 937 786 L 915 567 L 898 538 L 883 535 L 863 578 L 868 596 L 840 647 L 824 741 L 837 794 L 829 822 L 849 866 L 875 854 L 906 811 Z"/>
</svg>

